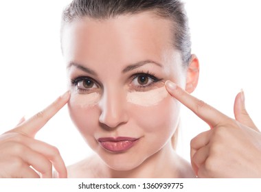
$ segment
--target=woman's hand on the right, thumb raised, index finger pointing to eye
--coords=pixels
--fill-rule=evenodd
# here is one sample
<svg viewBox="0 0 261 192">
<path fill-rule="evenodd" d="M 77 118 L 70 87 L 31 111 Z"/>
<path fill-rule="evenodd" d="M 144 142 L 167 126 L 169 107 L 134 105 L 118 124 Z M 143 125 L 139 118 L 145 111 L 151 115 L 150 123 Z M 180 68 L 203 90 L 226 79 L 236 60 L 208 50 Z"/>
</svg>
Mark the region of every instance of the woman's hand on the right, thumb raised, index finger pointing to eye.
<svg viewBox="0 0 261 192">
<path fill-rule="evenodd" d="M 238 93 L 231 119 L 182 88 L 166 82 L 170 95 L 203 119 L 210 130 L 191 141 L 191 163 L 199 178 L 261 178 L 261 134 Z"/>
</svg>

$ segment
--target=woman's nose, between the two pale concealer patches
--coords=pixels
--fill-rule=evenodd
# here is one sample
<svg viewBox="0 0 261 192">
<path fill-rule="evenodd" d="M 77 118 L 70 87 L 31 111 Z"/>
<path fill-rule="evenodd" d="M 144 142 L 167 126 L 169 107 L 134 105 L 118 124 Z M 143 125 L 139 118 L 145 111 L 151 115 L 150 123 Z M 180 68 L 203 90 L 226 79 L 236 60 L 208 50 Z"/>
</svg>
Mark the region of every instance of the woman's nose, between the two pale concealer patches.
<svg viewBox="0 0 261 192">
<path fill-rule="evenodd" d="M 102 99 L 100 100 L 100 123 L 109 128 L 117 128 L 128 121 L 126 111 L 126 98 L 124 93 L 120 93 L 115 89 L 104 90 Z"/>
</svg>

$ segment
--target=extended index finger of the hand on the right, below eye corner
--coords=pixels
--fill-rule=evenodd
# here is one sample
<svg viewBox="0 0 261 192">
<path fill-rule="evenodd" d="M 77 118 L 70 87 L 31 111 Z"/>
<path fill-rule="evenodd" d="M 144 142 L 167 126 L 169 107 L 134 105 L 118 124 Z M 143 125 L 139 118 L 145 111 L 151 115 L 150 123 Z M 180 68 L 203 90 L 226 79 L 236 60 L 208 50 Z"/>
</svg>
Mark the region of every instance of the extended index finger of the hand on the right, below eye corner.
<svg viewBox="0 0 261 192">
<path fill-rule="evenodd" d="M 194 112 L 199 118 L 209 124 L 211 128 L 216 127 L 216 125 L 223 122 L 224 119 L 229 118 L 222 112 L 216 110 L 216 108 L 213 108 L 204 101 L 193 97 L 181 87 L 177 86 L 177 84 L 174 84 L 169 80 L 166 81 L 166 88 L 170 95 L 180 101 L 181 104 L 192 110 L 192 112 Z"/>
</svg>

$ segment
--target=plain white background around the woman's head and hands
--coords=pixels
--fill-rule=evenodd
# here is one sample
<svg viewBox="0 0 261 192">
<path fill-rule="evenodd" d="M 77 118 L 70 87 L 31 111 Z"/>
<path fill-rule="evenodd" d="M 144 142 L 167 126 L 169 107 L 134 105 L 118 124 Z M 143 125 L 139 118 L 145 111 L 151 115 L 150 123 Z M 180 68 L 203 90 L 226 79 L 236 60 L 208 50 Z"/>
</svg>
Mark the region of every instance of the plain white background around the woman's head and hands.
<svg viewBox="0 0 261 192">
<path fill-rule="evenodd" d="M 0 1 L 0 132 L 49 105 L 66 91 L 60 52 L 60 15 L 70 0 Z M 194 96 L 234 117 L 234 97 L 245 91 L 247 109 L 261 127 L 260 1 L 187 0 L 192 52 L 201 64 Z M 207 124 L 183 108 L 178 152 L 190 159 L 190 140 Z M 60 149 L 70 165 L 91 153 L 74 128 L 67 108 L 36 139 Z"/>
</svg>

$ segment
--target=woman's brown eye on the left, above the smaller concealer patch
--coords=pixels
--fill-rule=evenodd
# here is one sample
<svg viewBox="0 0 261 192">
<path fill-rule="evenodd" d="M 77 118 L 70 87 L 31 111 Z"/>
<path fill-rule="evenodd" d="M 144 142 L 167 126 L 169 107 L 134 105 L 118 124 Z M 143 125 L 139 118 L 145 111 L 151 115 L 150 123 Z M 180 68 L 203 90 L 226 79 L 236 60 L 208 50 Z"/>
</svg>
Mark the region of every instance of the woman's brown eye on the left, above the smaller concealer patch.
<svg viewBox="0 0 261 192">
<path fill-rule="evenodd" d="M 80 93 L 93 92 L 96 88 L 98 88 L 98 85 L 90 77 L 77 77 L 75 80 L 71 80 L 71 83 Z"/>
</svg>

